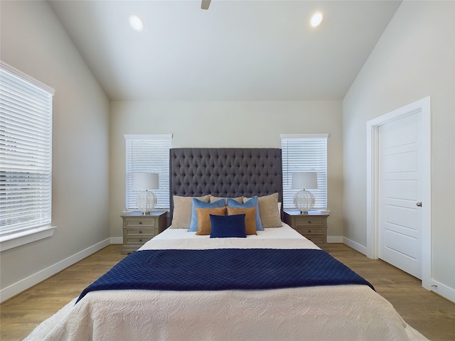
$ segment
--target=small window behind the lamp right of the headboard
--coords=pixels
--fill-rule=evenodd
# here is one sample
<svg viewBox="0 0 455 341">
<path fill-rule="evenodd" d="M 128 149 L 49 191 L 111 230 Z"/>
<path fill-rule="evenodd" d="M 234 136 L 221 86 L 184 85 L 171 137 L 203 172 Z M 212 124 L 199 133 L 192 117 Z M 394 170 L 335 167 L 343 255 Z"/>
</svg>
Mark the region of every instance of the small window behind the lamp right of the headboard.
<svg viewBox="0 0 455 341">
<path fill-rule="evenodd" d="M 314 209 L 327 208 L 327 138 L 328 134 L 282 135 L 283 207 L 294 208 L 291 189 L 293 172 L 317 172 L 318 189 L 311 189 Z"/>
</svg>

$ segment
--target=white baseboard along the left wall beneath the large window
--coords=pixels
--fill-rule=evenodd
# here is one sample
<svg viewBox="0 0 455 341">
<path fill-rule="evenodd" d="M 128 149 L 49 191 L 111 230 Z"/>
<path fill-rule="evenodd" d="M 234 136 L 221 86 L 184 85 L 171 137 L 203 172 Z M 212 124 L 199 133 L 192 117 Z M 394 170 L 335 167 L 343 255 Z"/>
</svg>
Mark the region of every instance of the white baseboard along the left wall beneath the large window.
<svg viewBox="0 0 455 341">
<path fill-rule="evenodd" d="M 109 244 L 110 239 L 105 239 L 102 242 L 92 245 L 91 247 L 87 247 L 87 249 L 77 252 L 77 254 L 73 254 L 73 256 L 69 256 L 68 258 L 63 259 L 58 263 L 55 263 L 41 271 L 38 271 L 36 274 L 23 278 L 21 281 L 11 284 L 11 286 L 2 288 L 0 290 L 0 303 L 18 295 L 22 291 L 26 291 L 28 288 L 31 288 L 32 286 L 35 286 L 50 276 L 53 276 L 63 269 L 68 268 L 68 266 L 72 266 L 78 261 L 82 261 L 82 259 L 85 259 L 87 256 L 94 254 L 96 251 L 100 251 L 100 249 L 107 247 Z"/>
</svg>

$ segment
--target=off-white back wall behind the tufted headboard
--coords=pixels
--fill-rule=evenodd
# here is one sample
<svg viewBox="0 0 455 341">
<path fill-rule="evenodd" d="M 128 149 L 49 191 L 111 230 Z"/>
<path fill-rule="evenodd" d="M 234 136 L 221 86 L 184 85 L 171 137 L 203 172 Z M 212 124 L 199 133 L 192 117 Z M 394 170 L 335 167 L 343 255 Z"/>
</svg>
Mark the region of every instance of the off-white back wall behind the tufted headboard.
<svg viewBox="0 0 455 341">
<path fill-rule="evenodd" d="M 281 148 L 280 134 L 328 133 L 328 236 L 343 236 L 341 101 L 112 102 L 110 234 L 122 236 L 124 134 L 173 134 L 173 147 Z"/>
</svg>

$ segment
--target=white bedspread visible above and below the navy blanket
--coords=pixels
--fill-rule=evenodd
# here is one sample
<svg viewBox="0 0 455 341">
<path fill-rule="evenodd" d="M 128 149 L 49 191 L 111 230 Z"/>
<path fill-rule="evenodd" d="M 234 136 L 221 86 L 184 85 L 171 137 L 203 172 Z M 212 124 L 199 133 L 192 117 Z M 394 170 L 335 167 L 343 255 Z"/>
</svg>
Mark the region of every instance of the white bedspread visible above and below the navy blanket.
<svg viewBox="0 0 455 341">
<path fill-rule="evenodd" d="M 141 249 L 311 248 L 284 225 L 246 239 L 166 229 Z M 45 340 L 426 340 L 368 286 L 93 291 Z"/>
</svg>

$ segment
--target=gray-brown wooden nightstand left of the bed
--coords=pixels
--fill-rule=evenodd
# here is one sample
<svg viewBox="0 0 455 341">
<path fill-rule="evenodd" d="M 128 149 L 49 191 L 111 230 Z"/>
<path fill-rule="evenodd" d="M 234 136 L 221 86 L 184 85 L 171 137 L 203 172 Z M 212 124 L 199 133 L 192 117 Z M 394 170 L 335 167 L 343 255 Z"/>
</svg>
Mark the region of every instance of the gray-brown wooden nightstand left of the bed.
<svg viewBox="0 0 455 341">
<path fill-rule="evenodd" d="M 143 215 L 134 211 L 124 213 L 122 254 L 137 251 L 149 239 L 166 229 L 166 211 L 151 211 Z"/>
</svg>

